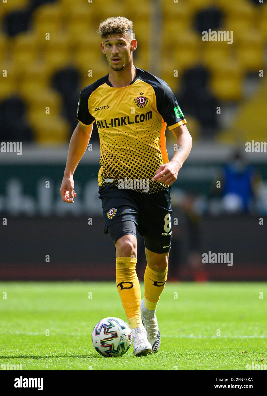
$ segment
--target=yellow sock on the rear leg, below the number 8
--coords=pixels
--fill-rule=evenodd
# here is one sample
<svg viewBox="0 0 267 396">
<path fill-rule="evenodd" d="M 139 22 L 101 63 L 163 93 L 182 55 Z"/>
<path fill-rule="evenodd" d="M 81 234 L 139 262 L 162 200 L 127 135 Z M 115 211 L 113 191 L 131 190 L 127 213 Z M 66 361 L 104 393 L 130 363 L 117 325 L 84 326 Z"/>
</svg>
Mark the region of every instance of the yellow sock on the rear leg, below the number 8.
<svg viewBox="0 0 267 396">
<path fill-rule="evenodd" d="M 147 309 L 155 310 L 160 294 L 167 280 L 168 266 L 163 272 L 154 271 L 148 265 L 145 269 L 144 305 Z"/>
</svg>

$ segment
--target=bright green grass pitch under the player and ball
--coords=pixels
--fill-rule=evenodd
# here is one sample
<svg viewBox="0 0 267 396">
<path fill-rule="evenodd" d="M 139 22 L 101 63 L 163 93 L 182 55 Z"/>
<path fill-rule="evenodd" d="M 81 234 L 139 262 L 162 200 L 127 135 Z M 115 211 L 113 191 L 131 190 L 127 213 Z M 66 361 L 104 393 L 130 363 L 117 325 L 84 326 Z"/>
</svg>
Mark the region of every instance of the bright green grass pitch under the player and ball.
<svg viewBox="0 0 267 396">
<path fill-rule="evenodd" d="M 252 362 L 267 364 L 266 286 L 169 282 L 157 308 L 160 351 L 136 358 L 132 345 L 124 356 L 104 358 L 94 350 L 91 333 L 107 316 L 126 320 L 115 282 L 2 282 L 0 365 L 21 364 L 23 370 L 246 370 Z M 143 297 L 143 284 L 141 292 Z"/>
</svg>

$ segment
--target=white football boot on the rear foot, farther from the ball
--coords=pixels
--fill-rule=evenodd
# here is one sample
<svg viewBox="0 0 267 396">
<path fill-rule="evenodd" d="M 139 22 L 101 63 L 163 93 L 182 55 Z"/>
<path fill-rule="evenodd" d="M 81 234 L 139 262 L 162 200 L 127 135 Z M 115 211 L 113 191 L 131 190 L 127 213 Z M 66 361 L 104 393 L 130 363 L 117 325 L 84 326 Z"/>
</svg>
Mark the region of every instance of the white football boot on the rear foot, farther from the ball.
<svg viewBox="0 0 267 396">
<path fill-rule="evenodd" d="M 147 339 L 152 345 L 152 353 L 158 352 L 160 348 L 160 331 L 158 329 L 158 321 L 155 312 L 153 316 L 149 315 L 145 308 L 144 300 L 141 301 L 141 317 L 142 323 L 147 330 Z"/>
</svg>

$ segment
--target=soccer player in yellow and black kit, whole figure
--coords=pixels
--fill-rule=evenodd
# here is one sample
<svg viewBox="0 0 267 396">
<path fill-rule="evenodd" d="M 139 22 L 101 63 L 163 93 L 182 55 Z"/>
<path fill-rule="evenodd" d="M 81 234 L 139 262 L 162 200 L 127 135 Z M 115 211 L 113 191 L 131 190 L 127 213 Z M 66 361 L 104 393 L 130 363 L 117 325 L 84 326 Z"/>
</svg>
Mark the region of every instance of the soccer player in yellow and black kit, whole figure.
<svg viewBox="0 0 267 396">
<path fill-rule="evenodd" d="M 170 87 L 133 65 L 133 24 L 111 17 L 99 25 L 101 51 L 109 74 L 80 92 L 78 125 L 69 153 L 60 193 L 64 202 L 76 197 L 73 174 L 96 122 L 100 140 L 99 198 L 104 233 L 116 249 L 116 285 L 132 329 L 133 354 L 158 352 L 160 331 L 156 306 L 168 272 L 172 238 L 170 186 L 192 147 L 186 120 Z M 166 126 L 177 138 L 173 158 L 166 150 Z M 143 236 L 147 267 L 141 301 L 136 230 Z"/>
</svg>

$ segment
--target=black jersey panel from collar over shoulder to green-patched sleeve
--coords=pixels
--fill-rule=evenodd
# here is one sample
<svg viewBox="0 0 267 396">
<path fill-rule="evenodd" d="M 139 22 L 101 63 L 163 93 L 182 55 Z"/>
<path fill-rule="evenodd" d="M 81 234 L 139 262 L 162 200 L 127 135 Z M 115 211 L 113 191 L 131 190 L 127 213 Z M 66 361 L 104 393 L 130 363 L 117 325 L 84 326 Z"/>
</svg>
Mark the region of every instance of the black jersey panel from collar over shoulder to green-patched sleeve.
<svg viewBox="0 0 267 396">
<path fill-rule="evenodd" d="M 167 123 L 167 126 L 172 126 L 181 120 L 184 120 L 185 117 L 181 113 L 181 116 L 177 117 L 177 108 L 178 103 L 172 89 L 168 86 L 168 84 L 162 80 L 147 72 L 146 70 L 139 69 L 139 79 L 150 84 L 156 95 L 156 107 L 159 114 L 162 116 L 164 122 Z M 179 115 L 179 114 L 178 114 Z"/>
</svg>

